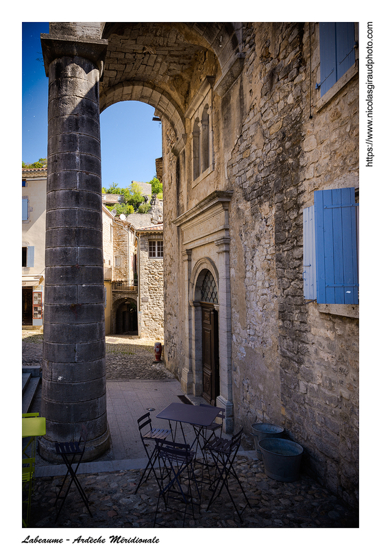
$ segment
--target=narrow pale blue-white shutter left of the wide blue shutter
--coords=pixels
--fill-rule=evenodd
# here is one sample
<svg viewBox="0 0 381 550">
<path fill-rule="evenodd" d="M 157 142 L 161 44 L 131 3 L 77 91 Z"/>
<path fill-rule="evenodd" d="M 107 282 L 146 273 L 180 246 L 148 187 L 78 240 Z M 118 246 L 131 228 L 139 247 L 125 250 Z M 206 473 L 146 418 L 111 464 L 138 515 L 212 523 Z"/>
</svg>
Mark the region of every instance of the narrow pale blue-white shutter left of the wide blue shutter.
<svg viewBox="0 0 381 550">
<path fill-rule="evenodd" d="M 303 293 L 316 300 L 315 206 L 303 211 Z"/>
</svg>

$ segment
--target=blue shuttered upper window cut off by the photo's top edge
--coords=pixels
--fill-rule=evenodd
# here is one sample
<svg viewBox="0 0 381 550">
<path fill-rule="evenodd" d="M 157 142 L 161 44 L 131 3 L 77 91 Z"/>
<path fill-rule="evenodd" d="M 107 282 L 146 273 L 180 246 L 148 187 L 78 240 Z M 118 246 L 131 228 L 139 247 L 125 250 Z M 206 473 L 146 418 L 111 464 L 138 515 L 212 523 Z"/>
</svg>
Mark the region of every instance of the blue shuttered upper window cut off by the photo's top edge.
<svg viewBox="0 0 381 550">
<path fill-rule="evenodd" d="M 323 96 L 356 61 L 354 23 L 319 23 L 319 40 Z"/>
</svg>

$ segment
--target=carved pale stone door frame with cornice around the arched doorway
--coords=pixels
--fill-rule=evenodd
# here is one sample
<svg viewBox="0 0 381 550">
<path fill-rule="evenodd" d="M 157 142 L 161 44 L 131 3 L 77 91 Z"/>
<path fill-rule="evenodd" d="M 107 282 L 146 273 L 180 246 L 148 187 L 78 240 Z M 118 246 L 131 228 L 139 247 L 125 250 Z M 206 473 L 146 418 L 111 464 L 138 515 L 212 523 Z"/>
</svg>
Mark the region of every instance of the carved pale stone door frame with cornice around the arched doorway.
<svg viewBox="0 0 381 550">
<path fill-rule="evenodd" d="M 225 431 L 232 433 L 232 313 L 230 297 L 230 191 L 214 191 L 173 223 L 181 228 L 185 302 L 188 302 L 186 350 L 188 360 L 182 369 L 184 394 L 201 396 L 201 280 L 205 270 L 212 273 L 219 293 L 214 304 L 219 313 L 219 385 L 217 407 L 225 409 Z"/>
</svg>

